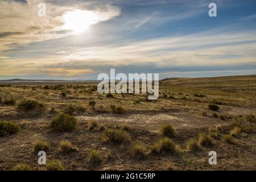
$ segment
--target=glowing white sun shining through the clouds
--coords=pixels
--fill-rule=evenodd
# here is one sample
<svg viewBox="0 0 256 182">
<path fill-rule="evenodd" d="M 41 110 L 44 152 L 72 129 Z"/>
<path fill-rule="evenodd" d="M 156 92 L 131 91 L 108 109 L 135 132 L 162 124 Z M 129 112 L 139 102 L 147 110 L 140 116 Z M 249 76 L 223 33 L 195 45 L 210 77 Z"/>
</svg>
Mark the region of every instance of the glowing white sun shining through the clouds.
<svg viewBox="0 0 256 182">
<path fill-rule="evenodd" d="M 92 11 L 68 11 L 63 15 L 64 29 L 75 32 L 86 31 L 90 25 L 96 24 L 99 21 L 98 16 Z"/>
</svg>

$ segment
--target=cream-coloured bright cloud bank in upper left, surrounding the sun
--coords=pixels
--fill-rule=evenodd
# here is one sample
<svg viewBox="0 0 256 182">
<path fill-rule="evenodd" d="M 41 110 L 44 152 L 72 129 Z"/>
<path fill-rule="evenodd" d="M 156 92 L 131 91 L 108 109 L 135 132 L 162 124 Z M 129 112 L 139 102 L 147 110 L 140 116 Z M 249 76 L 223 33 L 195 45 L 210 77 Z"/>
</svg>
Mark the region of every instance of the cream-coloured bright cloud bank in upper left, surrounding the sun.
<svg viewBox="0 0 256 182">
<path fill-rule="evenodd" d="M 46 1 L 46 17 L 38 16 L 40 0 L 0 1 L 0 51 L 13 49 L 16 45 L 43 42 L 72 35 L 64 27 L 64 15 L 75 10 L 88 11 L 97 15 L 98 22 L 113 19 L 120 14 L 112 5 L 85 6 L 82 1 L 72 1 L 69 6 Z M 83 19 L 81 19 L 81 24 Z M 96 23 L 98 23 L 96 22 Z"/>
</svg>

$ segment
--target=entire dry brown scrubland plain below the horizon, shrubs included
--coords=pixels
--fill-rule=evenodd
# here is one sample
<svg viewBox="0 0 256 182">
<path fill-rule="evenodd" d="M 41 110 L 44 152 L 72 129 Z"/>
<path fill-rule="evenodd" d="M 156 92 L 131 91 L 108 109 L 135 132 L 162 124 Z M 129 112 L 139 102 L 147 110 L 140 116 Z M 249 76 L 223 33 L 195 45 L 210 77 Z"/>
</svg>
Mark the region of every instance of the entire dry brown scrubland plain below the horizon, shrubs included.
<svg viewBox="0 0 256 182">
<path fill-rule="evenodd" d="M 256 76 L 166 79 L 151 102 L 98 94 L 97 83 L 10 84 L 0 170 L 256 169 Z"/>
</svg>

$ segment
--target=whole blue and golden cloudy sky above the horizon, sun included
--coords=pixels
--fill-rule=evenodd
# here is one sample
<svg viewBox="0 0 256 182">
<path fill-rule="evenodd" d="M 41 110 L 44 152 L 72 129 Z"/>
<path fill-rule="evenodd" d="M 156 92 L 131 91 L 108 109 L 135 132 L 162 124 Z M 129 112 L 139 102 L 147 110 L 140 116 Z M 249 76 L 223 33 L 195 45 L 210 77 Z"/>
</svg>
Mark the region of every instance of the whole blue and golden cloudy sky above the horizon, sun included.
<svg viewBox="0 0 256 182">
<path fill-rule="evenodd" d="M 212 2 L 216 17 L 208 15 Z M 246 0 L 0 0 L 0 80 L 96 80 L 110 68 L 160 78 L 256 75 L 255 7 Z"/>
</svg>

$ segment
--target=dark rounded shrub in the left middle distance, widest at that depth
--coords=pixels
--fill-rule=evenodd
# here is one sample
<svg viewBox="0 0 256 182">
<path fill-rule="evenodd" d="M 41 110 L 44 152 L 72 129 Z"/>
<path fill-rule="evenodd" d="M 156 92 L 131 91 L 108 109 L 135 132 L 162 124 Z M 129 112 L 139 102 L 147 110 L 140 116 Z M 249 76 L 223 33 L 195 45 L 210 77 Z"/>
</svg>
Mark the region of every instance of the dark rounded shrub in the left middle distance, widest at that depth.
<svg viewBox="0 0 256 182">
<path fill-rule="evenodd" d="M 22 111 L 43 111 L 45 107 L 42 103 L 38 101 L 27 100 L 20 102 L 20 104 L 18 105 L 18 109 Z"/>
</svg>

